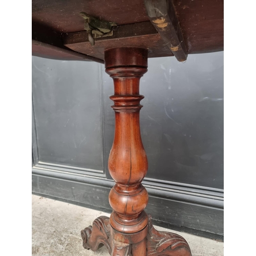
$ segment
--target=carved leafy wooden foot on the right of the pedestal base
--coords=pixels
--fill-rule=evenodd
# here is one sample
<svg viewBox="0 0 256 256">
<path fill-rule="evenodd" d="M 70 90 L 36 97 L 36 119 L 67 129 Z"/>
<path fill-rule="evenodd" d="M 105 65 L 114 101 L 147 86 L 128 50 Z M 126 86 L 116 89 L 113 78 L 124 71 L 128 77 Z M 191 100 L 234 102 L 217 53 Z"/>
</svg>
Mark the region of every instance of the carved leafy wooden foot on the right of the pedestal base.
<svg viewBox="0 0 256 256">
<path fill-rule="evenodd" d="M 175 233 L 157 231 L 148 215 L 147 255 L 150 256 L 191 256 L 186 240 Z"/>
</svg>

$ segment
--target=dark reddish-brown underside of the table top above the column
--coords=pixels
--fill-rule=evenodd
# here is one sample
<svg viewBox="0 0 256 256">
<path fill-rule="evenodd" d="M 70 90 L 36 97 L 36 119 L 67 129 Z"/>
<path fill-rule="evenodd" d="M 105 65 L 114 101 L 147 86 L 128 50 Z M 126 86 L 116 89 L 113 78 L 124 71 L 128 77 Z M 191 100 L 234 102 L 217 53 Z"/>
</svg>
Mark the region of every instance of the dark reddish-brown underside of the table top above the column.
<svg viewBox="0 0 256 256">
<path fill-rule="evenodd" d="M 164 17 L 170 22 L 165 28 L 152 22 L 155 17 L 148 10 L 153 3 L 156 13 L 162 13 L 166 1 L 146 2 L 32 0 L 32 55 L 103 63 L 106 49 L 140 47 L 148 49 L 148 57 L 175 55 L 181 61 L 184 57 L 177 57 L 170 47 L 177 41 L 182 56 L 223 51 L 223 0 L 169 0 Z M 80 12 L 117 26 L 110 36 L 94 38 L 92 46 Z"/>
</svg>

